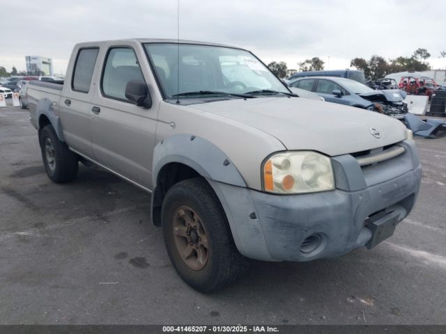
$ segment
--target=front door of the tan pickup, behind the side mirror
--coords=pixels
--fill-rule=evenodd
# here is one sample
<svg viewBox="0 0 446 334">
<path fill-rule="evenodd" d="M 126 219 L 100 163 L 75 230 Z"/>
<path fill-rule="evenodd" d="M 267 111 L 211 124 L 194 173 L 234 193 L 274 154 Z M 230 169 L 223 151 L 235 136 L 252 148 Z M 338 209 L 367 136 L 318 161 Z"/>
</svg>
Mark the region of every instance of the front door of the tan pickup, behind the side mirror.
<svg viewBox="0 0 446 334">
<path fill-rule="evenodd" d="M 158 105 L 153 103 L 151 109 L 144 109 L 125 97 L 128 81 L 153 81 L 148 78 L 142 45 L 109 45 L 101 63 L 102 74 L 90 108 L 95 161 L 151 189 Z M 145 65 L 145 73 L 140 64 Z"/>
</svg>

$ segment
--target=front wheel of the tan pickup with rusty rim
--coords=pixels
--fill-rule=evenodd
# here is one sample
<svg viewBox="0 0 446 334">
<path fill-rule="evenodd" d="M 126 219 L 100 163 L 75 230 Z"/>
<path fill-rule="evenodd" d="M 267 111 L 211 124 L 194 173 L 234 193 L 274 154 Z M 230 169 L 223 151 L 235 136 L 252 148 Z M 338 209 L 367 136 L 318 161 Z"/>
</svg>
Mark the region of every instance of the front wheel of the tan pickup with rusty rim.
<svg viewBox="0 0 446 334">
<path fill-rule="evenodd" d="M 194 224 L 199 225 L 195 233 Z M 220 201 L 201 177 L 178 182 L 169 189 L 162 204 L 162 232 L 174 268 L 199 292 L 211 292 L 235 282 L 248 267 L 247 258 L 238 253 L 233 242 Z M 195 250 L 190 253 L 190 248 Z"/>
</svg>

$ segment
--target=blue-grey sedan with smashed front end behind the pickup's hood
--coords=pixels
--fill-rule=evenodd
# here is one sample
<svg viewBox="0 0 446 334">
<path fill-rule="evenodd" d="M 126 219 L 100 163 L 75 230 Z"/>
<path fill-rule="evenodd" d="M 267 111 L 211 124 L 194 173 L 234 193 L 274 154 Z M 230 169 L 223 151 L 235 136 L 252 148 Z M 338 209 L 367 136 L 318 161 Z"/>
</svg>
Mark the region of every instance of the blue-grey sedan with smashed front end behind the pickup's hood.
<svg viewBox="0 0 446 334">
<path fill-rule="evenodd" d="M 311 77 L 289 82 L 289 86 L 309 90 L 321 95 L 325 101 L 346 104 L 371 111 L 383 111 L 378 104 L 407 112 L 407 105 L 400 90 L 374 90 L 351 79 Z M 394 110 L 394 112 L 397 112 Z M 384 112 L 386 113 L 386 112 Z"/>
</svg>

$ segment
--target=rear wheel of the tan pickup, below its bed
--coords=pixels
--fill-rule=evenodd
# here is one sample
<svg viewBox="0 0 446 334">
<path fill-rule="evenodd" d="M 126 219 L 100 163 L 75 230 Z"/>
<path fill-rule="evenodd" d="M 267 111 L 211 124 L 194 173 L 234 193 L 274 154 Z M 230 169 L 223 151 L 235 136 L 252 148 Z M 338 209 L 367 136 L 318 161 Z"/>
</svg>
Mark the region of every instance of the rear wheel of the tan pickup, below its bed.
<svg viewBox="0 0 446 334">
<path fill-rule="evenodd" d="M 39 136 L 43 165 L 55 183 L 70 182 L 77 175 L 79 161 L 66 143 L 60 141 L 52 125 L 45 125 Z"/>
</svg>

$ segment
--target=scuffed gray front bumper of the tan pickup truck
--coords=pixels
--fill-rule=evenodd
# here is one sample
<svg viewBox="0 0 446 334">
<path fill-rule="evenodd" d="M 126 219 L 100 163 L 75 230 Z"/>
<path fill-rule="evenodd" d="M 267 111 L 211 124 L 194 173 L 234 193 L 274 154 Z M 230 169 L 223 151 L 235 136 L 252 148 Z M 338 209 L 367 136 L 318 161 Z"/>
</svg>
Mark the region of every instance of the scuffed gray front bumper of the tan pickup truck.
<svg viewBox="0 0 446 334">
<path fill-rule="evenodd" d="M 421 181 L 413 142 L 390 161 L 360 168 L 346 154 L 333 158 L 337 189 L 323 193 L 274 195 L 210 182 L 228 216 L 240 253 L 257 260 L 309 261 L 336 257 L 364 246 L 371 232 L 367 217 L 397 205 L 398 221 L 412 209 Z M 253 214 L 254 213 L 254 214 Z M 302 253 L 310 235 L 323 236 L 320 247 Z"/>
</svg>

